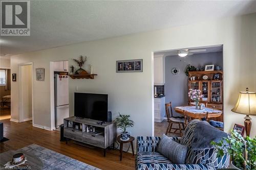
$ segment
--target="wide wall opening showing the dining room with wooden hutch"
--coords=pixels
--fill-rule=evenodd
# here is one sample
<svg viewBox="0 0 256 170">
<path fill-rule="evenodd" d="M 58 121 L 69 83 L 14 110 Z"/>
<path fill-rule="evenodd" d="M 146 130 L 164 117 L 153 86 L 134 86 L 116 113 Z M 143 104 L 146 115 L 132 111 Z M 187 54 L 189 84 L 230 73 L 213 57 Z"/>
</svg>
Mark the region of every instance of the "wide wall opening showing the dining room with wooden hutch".
<svg viewBox="0 0 256 170">
<path fill-rule="evenodd" d="M 187 68 L 194 71 L 188 74 L 185 72 Z M 181 135 L 179 129 L 183 129 L 184 115 L 175 111 L 175 107 L 195 104 L 188 96 L 190 88 L 201 90 L 203 98 L 200 103 L 214 110 L 223 110 L 223 45 L 154 53 L 155 136 L 161 136 L 167 131 L 168 136 Z M 173 116 L 171 120 L 167 120 L 165 104 L 168 104 L 170 117 Z M 208 122 L 211 120 L 211 123 L 223 125 L 223 115 L 208 118 Z"/>
</svg>

